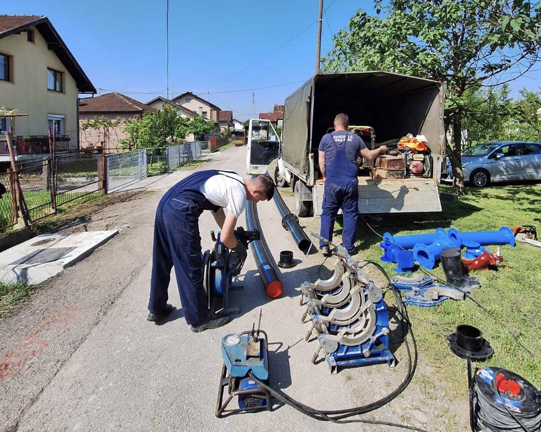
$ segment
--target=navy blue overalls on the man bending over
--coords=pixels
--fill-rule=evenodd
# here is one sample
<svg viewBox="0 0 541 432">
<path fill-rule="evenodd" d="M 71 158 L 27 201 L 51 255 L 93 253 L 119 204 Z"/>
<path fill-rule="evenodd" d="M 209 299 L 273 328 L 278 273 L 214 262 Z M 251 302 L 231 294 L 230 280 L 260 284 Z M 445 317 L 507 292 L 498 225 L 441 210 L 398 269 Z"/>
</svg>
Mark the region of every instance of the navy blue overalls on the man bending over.
<svg viewBox="0 0 541 432">
<path fill-rule="evenodd" d="M 220 207 L 210 203 L 199 190 L 205 181 L 219 174 L 218 170 L 195 172 L 171 187 L 158 204 L 148 302 L 150 313 L 160 313 L 166 308 L 173 266 L 186 322 L 194 324 L 209 313 L 203 289 L 199 217 L 203 210 L 216 212 Z"/>
</svg>

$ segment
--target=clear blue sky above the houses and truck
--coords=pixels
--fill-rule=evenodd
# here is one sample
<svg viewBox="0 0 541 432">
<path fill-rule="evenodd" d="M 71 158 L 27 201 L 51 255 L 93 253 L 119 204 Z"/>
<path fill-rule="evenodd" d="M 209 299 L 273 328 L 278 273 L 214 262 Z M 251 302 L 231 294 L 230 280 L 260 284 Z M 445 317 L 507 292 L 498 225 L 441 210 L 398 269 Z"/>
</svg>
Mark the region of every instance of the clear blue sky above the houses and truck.
<svg viewBox="0 0 541 432">
<path fill-rule="evenodd" d="M 3 3 L 2 14 L 47 15 L 102 94 L 114 90 L 142 102 L 167 97 L 166 0 Z M 314 72 L 318 4 L 169 0 L 169 95 L 208 96 L 243 120 L 252 115 L 254 92 L 256 114 L 272 111 Z M 332 48 L 331 34 L 357 9 L 373 12 L 372 4 L 325 0 L 322 54 Z M 511 86 L 537 90 L 538 77 L 530 72 Z M 273 85 L 280 86 L 236 91 Z"/>
</svg>

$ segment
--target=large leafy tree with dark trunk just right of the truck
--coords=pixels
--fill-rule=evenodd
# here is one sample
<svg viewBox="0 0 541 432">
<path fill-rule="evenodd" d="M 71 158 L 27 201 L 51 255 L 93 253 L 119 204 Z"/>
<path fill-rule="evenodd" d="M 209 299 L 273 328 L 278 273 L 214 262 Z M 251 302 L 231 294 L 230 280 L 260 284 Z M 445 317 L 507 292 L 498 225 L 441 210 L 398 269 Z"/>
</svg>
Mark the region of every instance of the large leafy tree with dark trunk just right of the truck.
<svg viewBox="0 0 541 432">
<path fill-rule="evenodd" d="M 502 84 L 539 60 L 541 6 L 527 0 L 375 0 L 333 37 L 325 71 L 388 70 L 447 83 L 453 188 L 464 193 L 461 131 L 467 92 Z"/>
</svg>

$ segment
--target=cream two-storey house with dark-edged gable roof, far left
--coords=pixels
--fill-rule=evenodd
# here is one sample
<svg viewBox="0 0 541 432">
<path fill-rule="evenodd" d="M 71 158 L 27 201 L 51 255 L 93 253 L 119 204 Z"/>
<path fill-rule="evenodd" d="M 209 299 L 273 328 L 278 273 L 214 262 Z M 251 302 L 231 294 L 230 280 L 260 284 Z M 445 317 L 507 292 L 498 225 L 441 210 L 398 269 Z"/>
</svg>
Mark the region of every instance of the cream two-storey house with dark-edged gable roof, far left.
<svg viewBox="0 0 541 432">
<path fill-rule="evenodd" d="M 79 93 L 96 89 L 47 17 L 0 15 L 0 107 L 28 114 L 0 119 L 0 135 L 13 128 L 16 159 L 48 154 L 49 128 L 57 151 L 79 148 Z M 9 160 L 3 135 L 0 161 Z"/>
</svg>

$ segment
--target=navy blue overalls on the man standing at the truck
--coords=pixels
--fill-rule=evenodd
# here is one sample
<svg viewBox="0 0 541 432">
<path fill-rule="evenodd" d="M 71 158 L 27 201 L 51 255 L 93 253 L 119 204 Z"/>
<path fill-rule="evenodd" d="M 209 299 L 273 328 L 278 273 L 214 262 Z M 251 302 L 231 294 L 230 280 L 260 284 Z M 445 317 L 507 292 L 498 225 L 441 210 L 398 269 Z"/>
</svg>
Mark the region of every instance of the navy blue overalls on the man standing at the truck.
<svg viewBox="0 0 541 432">
<path fill-rule="evenodd" d="M 321 237 L 332 241 L 334 221 L 342 207 L 344 228 L 342 230 L 342 245 L 349 253 L 353 253 L 357 216 L 359 214 L 359 189 L 357 172 L 359 167 L 348 159 L 346 154 L 348 133 L 341 146 L 333 140 L 336 149 L 334 160 L 325 165 L 325 191 L 321 206 Z M 320 248 L 325 246 L 319 242 Z"/>
</svg>

